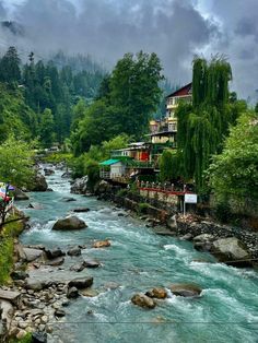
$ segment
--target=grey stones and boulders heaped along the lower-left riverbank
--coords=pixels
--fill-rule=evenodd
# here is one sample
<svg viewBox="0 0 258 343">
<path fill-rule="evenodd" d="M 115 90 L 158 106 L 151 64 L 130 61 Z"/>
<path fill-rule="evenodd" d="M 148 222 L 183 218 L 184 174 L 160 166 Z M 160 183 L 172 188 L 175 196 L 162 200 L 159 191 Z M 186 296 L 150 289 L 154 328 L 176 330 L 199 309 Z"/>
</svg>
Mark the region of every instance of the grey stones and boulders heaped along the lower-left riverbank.
<svg viewBox="0 0 258 343">
<path fill-rule="evenodd" d="M 104 246 L 108 246 L 106 241 L 93 244 L 96 248 Z M 95 260 L 75 260 L 70 268 L 69 280 L 52 277 L 52 272 L 64 270 L 61 267 L 64 259 L 80 257 L 83 248 L 77 246 L 63 251 L 43 246 L 22 246 L 16 241 L 16 263 L 11 273 L 13 282 L 10 286 L 0 287 L 1 342 L 8 342 L 9 338 L 22 339 L 28 332 L 36 336 L 35 342 L 47 342 L 47 334 L 51 334 L 54 327 L 66 317 L 70 301 L 87 293 L 91 296 L 87 289 L 93 284 L 93 277 L 74 275 L 83 269 L 98 268 L 101 264 Z"/>
</svg>

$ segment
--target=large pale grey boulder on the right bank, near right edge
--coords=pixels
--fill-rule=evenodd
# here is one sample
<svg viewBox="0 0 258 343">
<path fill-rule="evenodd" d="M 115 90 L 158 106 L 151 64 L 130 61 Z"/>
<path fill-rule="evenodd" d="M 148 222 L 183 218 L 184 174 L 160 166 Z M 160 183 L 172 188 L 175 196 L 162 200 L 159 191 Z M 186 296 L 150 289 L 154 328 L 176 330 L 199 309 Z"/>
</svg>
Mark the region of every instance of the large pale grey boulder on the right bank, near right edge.
<svg viewBox="0 0 258 343">
<path fill-rule="evenodd" d="M 220 238 L 212 244 L 211 252 L 221 261 L 228 262 L 228 264 L 248 264 L 246 261 L 250 259 L 250 253 L 245 245 L 235 237 Z M 245 262 L 246 261 L 246 262 Z"/>
</svg>

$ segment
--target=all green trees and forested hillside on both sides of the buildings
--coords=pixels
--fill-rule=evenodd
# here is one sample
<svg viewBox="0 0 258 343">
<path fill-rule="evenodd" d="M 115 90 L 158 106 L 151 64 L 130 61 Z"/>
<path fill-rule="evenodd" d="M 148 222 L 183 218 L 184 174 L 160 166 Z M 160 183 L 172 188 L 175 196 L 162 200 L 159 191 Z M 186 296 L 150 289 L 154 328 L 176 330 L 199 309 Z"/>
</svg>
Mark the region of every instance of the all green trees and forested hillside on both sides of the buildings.
<svg viewBox="0 0 258 343">
<path fill-rule="evenodd" d="M 176 111 L 177 149 L 160 157 L 161 181 L 194 182 L 220 202 L 227 193 L 257 199 L 258 106 L 230 92 L 232 78 L 224 57 L 194 59 L 192 104 Z M 94 185 L 112 150 L 145 140 L 149 120 L 164 116 L 164 95 L 173 90 L 155 54 L 128 52 L 107 72 L 89 56 L 61 51 L 37 61 L 31 52 L 23 63 L 10 47 L 0 58 L 1 179 L 25 185 L 30 156 L 57 145 L 70 154 L 73 176 L 89 175 Z M 21 146 L 19 156 L 13 146 Z"/>
</svg>

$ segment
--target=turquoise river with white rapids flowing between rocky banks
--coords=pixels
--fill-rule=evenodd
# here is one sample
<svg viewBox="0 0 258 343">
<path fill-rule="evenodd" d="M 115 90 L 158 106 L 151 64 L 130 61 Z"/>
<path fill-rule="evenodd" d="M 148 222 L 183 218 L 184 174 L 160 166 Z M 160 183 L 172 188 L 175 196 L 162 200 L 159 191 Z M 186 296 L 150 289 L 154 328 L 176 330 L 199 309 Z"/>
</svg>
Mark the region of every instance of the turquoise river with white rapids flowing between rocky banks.
<svg viewBox="0 0 258 343">
<path fill-rule="evenodd" d="M 258 273 L 213 263 L 210 255 L 198 252 L 192 244 L 155 235 L 144 222 L 95 198 L 70 193 L 61 170 L 47 177 L 52 192 L 31 193 L 30 201 L 19 202 L 31 216 L 32 228 L 21 236 L 23 244 L 46 247 L 86 245 L 81 257 L 66 258 L 62 270 L 50 270 L 51 277 L 71 277 L 69 267 L 82 258 L 101 261 L 102 267 L 84 270 L 75 276 L 92 275 L 94 297 L 80 297 L 66 308 L 67 316 L 54 324 L 52 339 L 58 343 L 201 343 L 258 342 Z M 64 197 L 77 201 L 64 202 Z M 42 209 L 27 209 L 30 202 Z M 78 232 L 54 232 L 56 220 L 74 208 L 89 227 Z M 94 239 L 108 238 L 112 246 L 92 249 Z M 199 262 L 195 260 L 207 260 Z M 43 277 L 42 275 L 35 275 Z M 200 298 L 169 297 L 151 310 L 131 304 L 134 293 L 172 283 L 197 283 Z"/>
</svg>

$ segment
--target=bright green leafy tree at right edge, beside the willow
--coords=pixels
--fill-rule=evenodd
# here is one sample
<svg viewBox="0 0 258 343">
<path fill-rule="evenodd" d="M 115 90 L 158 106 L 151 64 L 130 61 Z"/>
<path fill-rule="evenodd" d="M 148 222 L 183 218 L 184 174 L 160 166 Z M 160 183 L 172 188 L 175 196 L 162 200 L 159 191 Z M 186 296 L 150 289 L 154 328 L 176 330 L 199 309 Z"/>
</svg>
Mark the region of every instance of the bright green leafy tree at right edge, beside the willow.
<svg viewBox="0 0 258 343">
<path fill-rule="evenodd" d="M 258 201 L 258 114 L 247 111 L 231 129 L 223 152 L 209 168 L 219 201 L 245 198 Z"/>
</svg>

